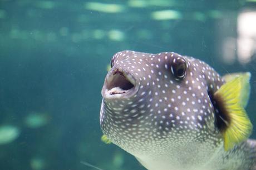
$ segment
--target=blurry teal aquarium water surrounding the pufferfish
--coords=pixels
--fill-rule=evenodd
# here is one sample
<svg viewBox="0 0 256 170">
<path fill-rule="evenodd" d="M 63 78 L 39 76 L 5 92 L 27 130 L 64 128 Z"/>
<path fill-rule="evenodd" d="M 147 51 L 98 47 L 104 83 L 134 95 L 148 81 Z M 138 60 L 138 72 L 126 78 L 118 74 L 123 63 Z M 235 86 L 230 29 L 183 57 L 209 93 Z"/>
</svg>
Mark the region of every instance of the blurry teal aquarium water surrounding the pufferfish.
<svg viewBox="0 0 256 170">
<path fill-rule="evenodd" d="M 101 88 L 125 49 L 252 73 L 256 138 L 255 0 L 0 0 L 0 169 L 145 169 L 100 139 Z"/>
</svg>

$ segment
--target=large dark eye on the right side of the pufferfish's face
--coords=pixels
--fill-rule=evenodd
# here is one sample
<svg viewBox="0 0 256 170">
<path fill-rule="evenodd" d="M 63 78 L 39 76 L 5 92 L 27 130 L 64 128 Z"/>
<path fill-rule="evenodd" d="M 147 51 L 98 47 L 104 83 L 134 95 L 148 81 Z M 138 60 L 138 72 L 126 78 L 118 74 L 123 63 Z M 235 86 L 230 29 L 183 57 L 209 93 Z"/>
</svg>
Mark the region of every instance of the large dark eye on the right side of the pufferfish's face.
<svg viewBox="0 0 256 170">
<path fill-rule="evenodd" d="M 173 73 L 175 79 L 181 80 L 186 76 L 186 61 L 183 58 L 174 58 L 171 64 L 171 73 Z"/>
</svg>

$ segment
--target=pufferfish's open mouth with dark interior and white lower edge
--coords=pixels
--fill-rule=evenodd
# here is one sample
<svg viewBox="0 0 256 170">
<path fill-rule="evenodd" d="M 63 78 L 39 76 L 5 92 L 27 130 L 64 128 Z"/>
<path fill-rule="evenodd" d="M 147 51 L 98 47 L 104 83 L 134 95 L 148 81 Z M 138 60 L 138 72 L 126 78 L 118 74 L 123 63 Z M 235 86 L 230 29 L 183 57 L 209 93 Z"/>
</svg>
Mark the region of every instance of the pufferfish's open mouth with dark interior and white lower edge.
<svg viewBox="0 0 256 170">
<path fill-rule="evenodd" d="M 115 69 L 107 75 L 105 97 L 127 96 L 135 91 L 135 79 L 129 72 Z"/>
</svg>

